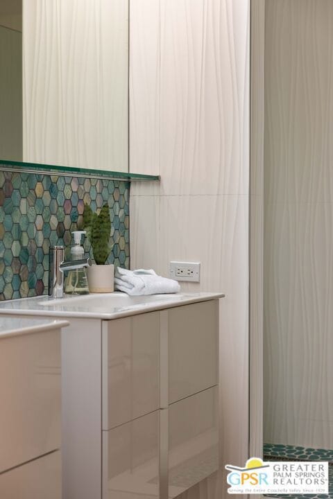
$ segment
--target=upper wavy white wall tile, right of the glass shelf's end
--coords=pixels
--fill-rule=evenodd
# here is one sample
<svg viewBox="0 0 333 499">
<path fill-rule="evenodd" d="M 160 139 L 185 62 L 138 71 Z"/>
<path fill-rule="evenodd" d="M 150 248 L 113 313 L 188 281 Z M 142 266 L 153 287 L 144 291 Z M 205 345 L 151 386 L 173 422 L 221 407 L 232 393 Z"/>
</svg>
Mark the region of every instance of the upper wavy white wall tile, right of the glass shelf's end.
<svg viewBox="0 0 333 499">
<path fill-rule="evenodd" d="M 160 171 L 169 194 L 248 193 L 248 2 L 161 2 Z"/>
</svg>

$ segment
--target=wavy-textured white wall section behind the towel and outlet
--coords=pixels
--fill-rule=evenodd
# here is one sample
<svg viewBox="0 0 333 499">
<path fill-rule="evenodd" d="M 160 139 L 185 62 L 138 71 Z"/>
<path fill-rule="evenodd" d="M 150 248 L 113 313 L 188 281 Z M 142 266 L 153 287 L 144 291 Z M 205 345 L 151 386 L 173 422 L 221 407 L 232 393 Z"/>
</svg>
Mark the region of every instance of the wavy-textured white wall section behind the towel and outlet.
<svg viewBox="0 0 333 499">
<path fill-rule="evenodd" d="M 223 466 L 242 464 L 248 457 L 249 2 L 151 3 L 130 3 L 130 169 L 160 173 L 162 180 L 160 187 L 131 188 L 131 265 L 155 265 L 169 275 L 171 259 L 198 260 L 200 284 L 182 289 L 226 293 L 221 455 Z M 226 497 L 223 475 L 221 469 L 180 497 Z"/>
</svg>

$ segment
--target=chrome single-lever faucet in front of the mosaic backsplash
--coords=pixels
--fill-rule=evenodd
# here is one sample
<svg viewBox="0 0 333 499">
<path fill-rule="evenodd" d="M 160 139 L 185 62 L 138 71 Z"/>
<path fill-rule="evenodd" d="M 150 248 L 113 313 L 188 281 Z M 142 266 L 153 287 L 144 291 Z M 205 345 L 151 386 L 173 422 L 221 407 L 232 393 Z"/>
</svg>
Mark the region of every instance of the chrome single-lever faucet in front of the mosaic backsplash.
<svg viewBox="0 0 333 499">
<path fill-rule="evenodd" d="M 65 247 L 50 247 L 49 257 L 49 296 L 62 298 L 64 296 L 64 272 L 65 270 L 76 270 L 92 265 L 91 259 L 80 259 L 75 261 L 64 261 Z"/>
</svg>

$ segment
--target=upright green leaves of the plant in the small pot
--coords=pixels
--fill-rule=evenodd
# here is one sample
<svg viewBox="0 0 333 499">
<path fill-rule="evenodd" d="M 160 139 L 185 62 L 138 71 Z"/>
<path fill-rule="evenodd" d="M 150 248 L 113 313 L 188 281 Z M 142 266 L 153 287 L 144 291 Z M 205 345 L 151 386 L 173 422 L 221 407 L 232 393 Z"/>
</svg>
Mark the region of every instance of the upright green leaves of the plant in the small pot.
<svg viewBox="0 0 333 499">
<path fill-rule="evenodd" d="M 111 220 L 108 204 L 103 205 L 99 214 L 94 213 L 89 204 L 85 204 L 83 228 L 87 231 L 96 264 L 104 265 L 112 249 L 109 245 Z"/>
</svg>

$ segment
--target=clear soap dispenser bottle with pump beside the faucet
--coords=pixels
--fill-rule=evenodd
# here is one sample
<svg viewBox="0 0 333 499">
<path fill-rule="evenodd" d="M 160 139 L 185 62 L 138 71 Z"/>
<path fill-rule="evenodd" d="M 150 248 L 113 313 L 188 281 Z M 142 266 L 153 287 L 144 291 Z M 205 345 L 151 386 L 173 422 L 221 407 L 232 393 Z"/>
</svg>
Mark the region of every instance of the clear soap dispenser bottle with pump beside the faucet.
<svg viewBox="0 0 333 499">
<path fill-rule="evenodd" d="M 71 260 L 83 259 L 85 250 L 81 246 L 81 236 L 86 234 L 85 231 L 73 231 L 74 245 L 71 247 Z M 68 295 L 87 295 L 89 293 L 87 270 L 85 267 L 75 270 L 69 270 L 65 293 Z"/>
</svg>

